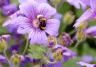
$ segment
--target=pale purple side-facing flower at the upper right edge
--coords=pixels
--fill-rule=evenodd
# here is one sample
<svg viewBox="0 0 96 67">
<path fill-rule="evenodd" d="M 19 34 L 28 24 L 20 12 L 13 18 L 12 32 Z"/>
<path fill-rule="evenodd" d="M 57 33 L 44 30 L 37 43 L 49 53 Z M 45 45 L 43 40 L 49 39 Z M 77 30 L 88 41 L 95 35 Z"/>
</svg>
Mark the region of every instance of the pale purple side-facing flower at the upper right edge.
<svg viewBox="0 0 96 67">
<path fill-rule="evenodd" d="M 85 21 L 92 20 L 96 17 L 96 0 L 88 0 L 86 3 L 89 3 L 90 8 L 87 9 L 79 19 L 77 19 L 76 23 L 74 24 L 74 27 L 76 28 Z"/>
</svg>

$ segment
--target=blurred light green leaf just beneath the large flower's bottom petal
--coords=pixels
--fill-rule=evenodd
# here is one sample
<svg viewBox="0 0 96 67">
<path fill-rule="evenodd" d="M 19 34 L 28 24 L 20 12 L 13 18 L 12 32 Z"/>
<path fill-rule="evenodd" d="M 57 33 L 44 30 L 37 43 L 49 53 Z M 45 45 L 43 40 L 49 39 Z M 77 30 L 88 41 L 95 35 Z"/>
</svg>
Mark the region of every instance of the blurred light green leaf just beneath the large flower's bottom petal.
<svg viewBox="0 0 96 67">
<path fill-rule="evenodd" d="M 44 53 L 47 51 L 47 49 L 40 45 L 30 45 L 28 51 L 29 55 L 31 55 L 33 58 L 41 59 L 44 56 Z"/>
</svg>

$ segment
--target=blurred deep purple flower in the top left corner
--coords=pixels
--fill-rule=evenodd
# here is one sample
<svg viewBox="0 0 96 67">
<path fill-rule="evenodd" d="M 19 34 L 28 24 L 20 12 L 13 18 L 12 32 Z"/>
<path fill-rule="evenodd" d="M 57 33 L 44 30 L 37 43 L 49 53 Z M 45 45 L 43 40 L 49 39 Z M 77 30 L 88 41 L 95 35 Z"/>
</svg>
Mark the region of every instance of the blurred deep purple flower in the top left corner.
<svg viewBox="0 0 96 67">
<path fill-rule="evenodd" d="M 0 0 L 0 9 L 5 16 L 9 16 L 18 10 L 17 5 L 11 4 L 10 0 Z"/>
</svg>

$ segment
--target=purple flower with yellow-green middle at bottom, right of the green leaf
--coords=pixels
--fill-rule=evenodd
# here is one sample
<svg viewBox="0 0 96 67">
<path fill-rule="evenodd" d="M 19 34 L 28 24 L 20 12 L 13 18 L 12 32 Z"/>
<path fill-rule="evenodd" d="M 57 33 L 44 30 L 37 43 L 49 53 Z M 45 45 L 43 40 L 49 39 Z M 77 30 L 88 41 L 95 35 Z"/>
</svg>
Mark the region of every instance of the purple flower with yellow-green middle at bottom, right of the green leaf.
<svg viewBox="0 0 96 67">
<path fill-rule="evenodd" d="M 76 54 L 62 45 L 55 45 L 52 48 L 50 55 L 50 62 L 44 64 L 42 67 L 63 67 L 63 63 L 74 58 Z"/>
</svg>

